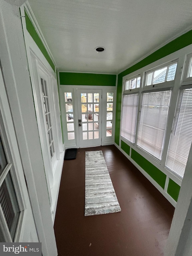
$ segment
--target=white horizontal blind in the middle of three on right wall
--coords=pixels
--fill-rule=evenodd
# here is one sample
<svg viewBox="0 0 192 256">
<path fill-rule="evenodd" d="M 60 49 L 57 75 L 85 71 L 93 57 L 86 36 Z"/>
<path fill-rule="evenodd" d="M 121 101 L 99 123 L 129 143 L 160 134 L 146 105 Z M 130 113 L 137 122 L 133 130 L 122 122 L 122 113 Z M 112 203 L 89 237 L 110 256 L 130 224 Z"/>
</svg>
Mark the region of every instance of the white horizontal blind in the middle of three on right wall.
<svg viewBox="0 0 192 256">
<path fill-rule="evenodd" d="M 142 95 L 137 146 L 161 160 L 171 91 Z"/>
</svg>

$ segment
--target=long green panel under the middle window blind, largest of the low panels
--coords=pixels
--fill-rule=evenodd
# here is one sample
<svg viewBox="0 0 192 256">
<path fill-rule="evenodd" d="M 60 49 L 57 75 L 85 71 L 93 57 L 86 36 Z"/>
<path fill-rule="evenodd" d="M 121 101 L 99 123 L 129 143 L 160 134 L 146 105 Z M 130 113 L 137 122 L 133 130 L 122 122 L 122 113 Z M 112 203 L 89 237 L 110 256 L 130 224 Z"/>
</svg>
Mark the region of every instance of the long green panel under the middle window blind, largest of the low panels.
<svg viewBox="0 0 192 256">
<path fill-rule="evenodd" d="M 160 171 L 157 167 L 155 167 L 152 163 L 150 163 L 146 158 L 137 153 L 134 149 L 131 149 L 131 158 L 139 164 L 139 166 L 149 174 L 160 186 L 164 189 L 166 175 L 162 171 Z"/>
</svg>

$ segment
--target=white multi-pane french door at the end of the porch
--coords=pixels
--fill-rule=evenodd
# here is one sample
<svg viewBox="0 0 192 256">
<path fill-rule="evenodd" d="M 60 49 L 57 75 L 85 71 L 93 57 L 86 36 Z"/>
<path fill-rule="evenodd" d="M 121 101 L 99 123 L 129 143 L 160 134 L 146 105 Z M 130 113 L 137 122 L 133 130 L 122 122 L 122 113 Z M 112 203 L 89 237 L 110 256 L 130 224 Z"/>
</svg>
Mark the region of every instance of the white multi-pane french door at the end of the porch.
<svg viewBox="0 0 192 256">
<path fill-rule="evenodd" d="M 77 89 L 80 147 L 101 146 L 101 89 Z"/>
</svg>

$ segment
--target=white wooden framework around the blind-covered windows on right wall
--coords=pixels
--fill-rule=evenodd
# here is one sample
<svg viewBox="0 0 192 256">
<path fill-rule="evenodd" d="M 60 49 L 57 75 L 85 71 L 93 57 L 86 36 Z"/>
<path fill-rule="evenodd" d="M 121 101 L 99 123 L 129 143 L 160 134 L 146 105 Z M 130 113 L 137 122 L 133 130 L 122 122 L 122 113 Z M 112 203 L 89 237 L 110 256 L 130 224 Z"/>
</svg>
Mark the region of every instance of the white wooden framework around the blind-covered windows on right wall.
<svg viewBox="0 0 192 256">
<path fill-rule="evenodd" d="M 184 47 L 174 53 L 171 53 L 168 56 L 165 56 L 162 59 L 159 59 L 149 65 L 146 65 L 143 68 L 138 69 L 137 71 L 134 71 L 126 76 L 124 76 L 122 78 L 122 97 L 124 95 L 125 92 L 125 87 L 124 87 L 124 81 L 126 79 L 129 79 L 131 77 L 137 76 L 137 74 L 141 74 L 141 77 L 143 78 L 143 85 L 142 88 L 140 88 L 139 91 L 139 103 L 138 103 L 138 115 L 140 113 L 140 103 L 141 103 L 141 93 L 142 92 L 147 92 L 147 91 L 153 91 L 156 89 L 172 89 L 172 95 L 171 95 L 171 100 L 170 100 L 170 107 L 169 107 L 169 113 L 168 113 L 168 120 L 169 122 L 167 123 L 167 130 L 166 130 L 166 134 L 165 134 L 165 142 L 164 142 L 164 150 L 163 150 L 163 155 L 162 155 L 162 159 L 161 161 L 158 161 L 157 158 L 154 158 L 152 155 L 148 154 L 147 152 L 145 152 L 144 150 L 138 148 L 136 146 L 137 144 L 137 132 L 138 132 L 138 116 L 137 116 L 137 127 L 136 127 L 136 134 L 135 134 L 135 144 L 132 144 L 131 142 L 129 142 L 128 140 L 125 140 L 121 135 L 119 136 L 119 145 L 121 148 L 121 140 L 124 141 L 128 146 L 131 147 L 131 149 L 134 149 L 136 152 L 138 152 L 140 155 L 142 155 L 144 158 L 146 158 L 149 162 L 151 162 L 155 167 L 157 167 L 159 170 L 161 170 L 163 173 L 166 174 L 167 179 L 166 179 L 166 183 L 165 183 L 165 188 L 163 191 L 164 196 L 174 205 L 176 206 L 176 202 L 167 194 L 167 187 L 168 187 L 168 183 L 169 183 L 169 178 L 171 178 L 174 182 L 176 182 L 178 185 L 181 185 L 182 183 L 182 179 L 179 178 L 178 176 L 176 176 L 174 173 L 172 173 L 170 170 L 168 170 L 167 168 L 165 168 L 165 161 L 167 158 L 167 152 L 168 152 L 168 146 L 169 146 L 169 141 L 170 141 L 170 135 L 171 135 L 171 129 L 173 126 L 173 120 L 174 120 L 174 113 L 175 113 L 175 109 L 176 109 L 176 104 L 177 104 L 177 99 L 178 99 L 178 95 L 179 95 L 179 90 L 180 87 L 182 85 L 184 85 L 183 81 L 183 75 L 184 75 L 184 61 L 186 61 L 186 56 L 188 54 L 192 53 L 192 45 L 189 45 L 187 47 Z M 152 70 L 157 70 L 157 67 L 165 67 L 166 65 L 168 65 L 169 63 L 173 65 L 173 61 L 178 60 L 177 63 L 177 70 L 176 70 L 176 74 L 175 74 L 175 79 L 170 81 L 172 82 L 172 84 L 168 85 L 161 85 L 163 83 L 160 83 L 159 86 L 154 86 L 151 88 L 146 88 L 148 86 L 144 85 L 144 81 L 145 81 L 145 75 L 148 71 L 152 71 Z M 181 83 L 182 82 L 182 83 Z M 167 82 L 168 83 L 168 82 Z M 187 82 L 187 85 L 192 84 L 190 82 Z M 128 92 L 131 93 L 131 92 Z M 123 104 L 123 100 L 122 100 L 122 104 Z M 121 105 L 122 106 L 122 105 Z M 122 110 L 122 107 L 121 107 Z M 122 115 L 122 111 L 121 111 L 121 115 Z M 130 149 L 130 153 L 131 153 L 131 149 Z M 125 154 L 125 152 L 122 150 L 122 152 Z M 128 159 L 130 159 L 134 164 L 135 162 L 132 160 L 132 158 L 129 155 L 126 155 L 128 157 Z M 136 165 L 137 166 L 137 165 Z M 145 171 L 142 171 L 143 174 L 145 175 Z M 150 177 L 148 177 L 148 175 L 146 176 L 149 180 L 151 180 L 151 182 L 155 185 L 156 182 L 154 182 Z M 156 186 L 156 185 L 155 185 Z M 156 186 L 159 189 L 159 186 Z M 159 189 L 161 191 L 161 188 Z"/>
</svg>

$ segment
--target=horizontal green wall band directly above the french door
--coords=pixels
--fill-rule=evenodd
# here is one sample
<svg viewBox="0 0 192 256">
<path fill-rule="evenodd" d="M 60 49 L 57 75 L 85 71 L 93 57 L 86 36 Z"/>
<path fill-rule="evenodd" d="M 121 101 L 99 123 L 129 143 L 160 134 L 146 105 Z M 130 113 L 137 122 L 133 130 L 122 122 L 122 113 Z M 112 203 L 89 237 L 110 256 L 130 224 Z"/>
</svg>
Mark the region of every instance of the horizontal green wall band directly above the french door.
<svg viewBox="0 0 192 256">
<path fill-rule="evenodd" d="M 116 86 L 116 75 L 59 72 L 61 85 Z"/>
</svg>

